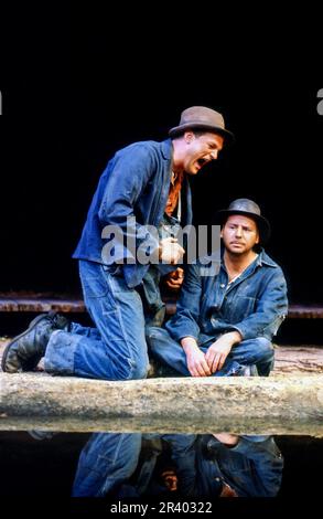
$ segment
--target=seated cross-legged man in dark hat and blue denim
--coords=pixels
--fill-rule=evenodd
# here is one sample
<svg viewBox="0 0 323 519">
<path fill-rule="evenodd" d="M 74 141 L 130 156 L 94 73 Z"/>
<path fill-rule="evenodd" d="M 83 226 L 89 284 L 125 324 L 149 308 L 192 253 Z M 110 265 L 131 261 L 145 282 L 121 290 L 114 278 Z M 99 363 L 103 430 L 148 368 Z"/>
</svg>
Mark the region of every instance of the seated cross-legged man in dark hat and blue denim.
<svg viewBox="0 0 323 519">
<path fill-rule="evenodd" d="M 217 213 L 223 255 L 216 272 L 187 265 L 176 314 L 148 332 L 153 354 L 185 375 L 269 375 L 272 337 L 288 310 L 281 268 L 263 251 L 269 222 L 252 200 Z M 212 275 L 209 275 L 212 274 Z"/>
</svg>

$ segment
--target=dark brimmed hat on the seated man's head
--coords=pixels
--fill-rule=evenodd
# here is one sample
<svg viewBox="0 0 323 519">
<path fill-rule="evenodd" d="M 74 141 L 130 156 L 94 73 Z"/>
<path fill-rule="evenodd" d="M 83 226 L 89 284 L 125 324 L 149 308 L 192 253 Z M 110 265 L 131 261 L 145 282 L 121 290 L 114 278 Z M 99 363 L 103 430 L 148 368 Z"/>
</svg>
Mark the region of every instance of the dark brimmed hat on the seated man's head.
<svg viewBox="0 0 323 519">
<path fill-rule="evenodd" d="M 228 209 L 218 211 L 215 215 L 216 223 L 223 224 L 232 214 L 243 214 L 256 221 L 259 230 L 260 242 L 263 244 L 270 236 L 270 224 L 266 218 L 261 216 L 259 205 L 249 199 L 234 200 Z"/>
</svg>

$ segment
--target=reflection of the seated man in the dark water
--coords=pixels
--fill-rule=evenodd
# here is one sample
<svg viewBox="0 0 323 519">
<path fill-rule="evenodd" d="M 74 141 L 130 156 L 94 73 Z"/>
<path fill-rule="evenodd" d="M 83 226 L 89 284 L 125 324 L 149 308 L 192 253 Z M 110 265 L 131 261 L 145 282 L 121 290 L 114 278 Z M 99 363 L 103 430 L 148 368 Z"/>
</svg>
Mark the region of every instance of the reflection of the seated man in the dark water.
<svg viewBox="0 0 323 519">
<path fill-rule="evenodd" d="M 177 477 L 187 497 L 274 497 L 280 488 L 283 459 L 272 436 L 202 435 L 186 452 L 194 464 L 179 466 Z"/>
</svg>

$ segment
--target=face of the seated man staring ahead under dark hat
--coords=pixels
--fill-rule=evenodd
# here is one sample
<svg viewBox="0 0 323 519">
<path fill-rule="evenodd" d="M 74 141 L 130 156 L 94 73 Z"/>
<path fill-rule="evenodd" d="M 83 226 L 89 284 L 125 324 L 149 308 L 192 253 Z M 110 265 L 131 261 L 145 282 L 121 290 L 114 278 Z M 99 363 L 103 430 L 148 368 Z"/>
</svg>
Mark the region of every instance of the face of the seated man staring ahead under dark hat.
<svg viewBox="0 0 323 519">
<path fill-rule="evenodd" d="M 246 254 L 259 243 L 255 220 L 241 214 L 229 216 L 220 232 L 225 248 L 232 254 Z"/>
</svg>

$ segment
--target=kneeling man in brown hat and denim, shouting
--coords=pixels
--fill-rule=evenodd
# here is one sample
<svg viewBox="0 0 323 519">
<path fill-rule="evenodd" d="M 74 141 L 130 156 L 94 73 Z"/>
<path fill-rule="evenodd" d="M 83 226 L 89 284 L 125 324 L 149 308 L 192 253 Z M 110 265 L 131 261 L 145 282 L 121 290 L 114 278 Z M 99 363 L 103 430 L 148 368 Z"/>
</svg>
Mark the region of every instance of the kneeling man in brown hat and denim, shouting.
<svg viewBox="0 0 323 519">
<path fill-rule="evenodd" d="M 8 345 L 3 371 L 32 370 L 44 356 L 45 370 L 55 374 L 107 380 L 147 375 L 144 318 L 163 310 L 158 263 L 174 271 L 184 253 L 175 237 L 152 227 L 160 231 L 164 220 L 192 222 L 187 177 L 217 159 L 232 138 L 219 113 L 193 106 L 182 113 L 170 139 L 136 142 L 115 155 L 74 253 L 95 327 L 41 315 Z M 173 286 L 180 283 L 172 280 Z"/>
</svg>

